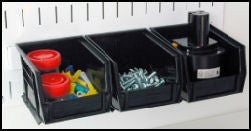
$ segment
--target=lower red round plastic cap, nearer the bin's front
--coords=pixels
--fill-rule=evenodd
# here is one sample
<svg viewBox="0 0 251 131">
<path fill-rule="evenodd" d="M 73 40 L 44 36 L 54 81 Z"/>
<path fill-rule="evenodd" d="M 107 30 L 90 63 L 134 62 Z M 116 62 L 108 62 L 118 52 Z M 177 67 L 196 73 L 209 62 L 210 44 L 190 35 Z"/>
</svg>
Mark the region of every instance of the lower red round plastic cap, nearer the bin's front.
<svg viewBox="0 0 251 131">
<path fill-rule="evenodd" d="M 61 73 L 47 73 L 41 75 L 45 94 L 49 97 L 63 96 L 70 90 L 70 78 Z"/>
</svg>

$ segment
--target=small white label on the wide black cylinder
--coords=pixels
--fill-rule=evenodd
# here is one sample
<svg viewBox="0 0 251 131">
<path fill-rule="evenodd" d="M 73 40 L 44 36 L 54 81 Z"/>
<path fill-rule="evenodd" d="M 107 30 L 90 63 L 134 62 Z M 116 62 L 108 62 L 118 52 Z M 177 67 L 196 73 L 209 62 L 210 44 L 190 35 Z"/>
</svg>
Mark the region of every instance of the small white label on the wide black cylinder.
<svg viewBox="0 0 251 131">
<path fill-rule="evenodd" d="M 211 69 L 198 69 L 197 79 L 208 79 L 220 76 L 220 67 Z"/>
</svg>

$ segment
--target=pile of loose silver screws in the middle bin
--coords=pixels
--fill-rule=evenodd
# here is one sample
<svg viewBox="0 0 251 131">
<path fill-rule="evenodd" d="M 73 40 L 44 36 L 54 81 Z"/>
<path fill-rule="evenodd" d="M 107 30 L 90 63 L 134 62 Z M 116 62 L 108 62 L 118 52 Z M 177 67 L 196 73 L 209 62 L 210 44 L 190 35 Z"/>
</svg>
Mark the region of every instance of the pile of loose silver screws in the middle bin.
<svg viewBox="0 0 251 131">
<path fill-rule="evenodd" d="M 142 68 L 129 69 L 129 73 L 120 75 L 120 85 L 126 91 L 158 87 L 164 83 L 165 79 L 159 78 L 157 72 L 148 75 L 147 70 Z"/>
</svg>

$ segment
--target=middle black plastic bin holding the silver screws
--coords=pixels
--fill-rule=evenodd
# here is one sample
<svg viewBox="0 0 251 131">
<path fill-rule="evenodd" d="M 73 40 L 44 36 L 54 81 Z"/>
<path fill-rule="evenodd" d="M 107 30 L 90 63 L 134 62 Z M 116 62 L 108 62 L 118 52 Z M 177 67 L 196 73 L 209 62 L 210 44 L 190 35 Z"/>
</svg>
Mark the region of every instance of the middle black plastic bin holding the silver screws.
<svg viewBox="0 0 251 131">
<path fill-rule="evenodd" d="M 146 29 L 86 36 L 112 62 L 114 109 L 126 111 L 181 102 L 181 57 L 152 37 Z M 173 80 L 156 88 L 125 91 L 119 83 L 119 73 L 134 67 L 156 71 L 159 76 Z M 173 74 L 168 72 L 169 68 L 174 68 Z"/>
</svg>

